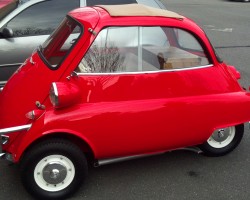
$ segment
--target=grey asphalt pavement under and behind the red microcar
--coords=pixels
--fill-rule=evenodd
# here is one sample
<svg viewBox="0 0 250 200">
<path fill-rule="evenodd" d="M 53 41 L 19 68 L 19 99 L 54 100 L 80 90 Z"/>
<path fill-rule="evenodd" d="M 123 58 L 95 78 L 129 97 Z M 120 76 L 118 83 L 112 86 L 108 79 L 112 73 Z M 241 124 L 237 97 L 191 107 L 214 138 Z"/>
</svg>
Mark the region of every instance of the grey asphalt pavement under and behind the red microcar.
<svg viewBox="0 0 250 200">
<path fill-rule="evenodd" d="M 224 0 L 162 0 L 207 33 L 218 54 L 250 85 L 250 3 Z M 220 111 L 218 110 L 218 114 Z M 217 158 L 191 151 L 91 168 L 71 200 L 248 200 L 250 131 L 239 147 Z M 32 199 L 22 187 L 17 166 L 0 161 L 0 200 Z"/>
</svg>

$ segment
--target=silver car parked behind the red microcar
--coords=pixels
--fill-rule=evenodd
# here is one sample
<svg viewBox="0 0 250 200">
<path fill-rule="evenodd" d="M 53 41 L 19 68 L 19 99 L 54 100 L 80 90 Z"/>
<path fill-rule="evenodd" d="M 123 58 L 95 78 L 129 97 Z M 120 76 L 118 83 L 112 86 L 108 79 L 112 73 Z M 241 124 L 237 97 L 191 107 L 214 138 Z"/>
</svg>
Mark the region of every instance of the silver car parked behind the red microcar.
<svg viewBox="0 0 250 200">
<path fill-rule="evenodd" d="M 24 60 L 42 44 L 72 9 L 95 4 L 142 3 L 163 8 L 158 0 L 29 0 L 0 18 L 0 87 Z M 13 9 L 11 4 L 6 10 Z"/>
</svg>

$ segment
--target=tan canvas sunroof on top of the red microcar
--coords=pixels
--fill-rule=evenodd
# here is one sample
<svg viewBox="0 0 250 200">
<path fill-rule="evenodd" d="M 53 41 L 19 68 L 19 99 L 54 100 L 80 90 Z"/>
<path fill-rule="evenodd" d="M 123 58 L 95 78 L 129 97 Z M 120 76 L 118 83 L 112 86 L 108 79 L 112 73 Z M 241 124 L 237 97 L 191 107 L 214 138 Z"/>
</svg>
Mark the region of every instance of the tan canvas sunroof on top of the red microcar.
<svg viewBox="0 0 250 200">
<path fill-rule="evenodd" d="M 98 5 L 105 9 L 110 16 L 119 17 L 119 16 L 158 16 L 158 17 L 169 17 L 176 19 L 183 19 L 184 17 L 169 11 L 162 10 L 158 8 L 153 8 L 145 6 L 142 4 L 125 4 L 125 5 Z"/>
</svg>

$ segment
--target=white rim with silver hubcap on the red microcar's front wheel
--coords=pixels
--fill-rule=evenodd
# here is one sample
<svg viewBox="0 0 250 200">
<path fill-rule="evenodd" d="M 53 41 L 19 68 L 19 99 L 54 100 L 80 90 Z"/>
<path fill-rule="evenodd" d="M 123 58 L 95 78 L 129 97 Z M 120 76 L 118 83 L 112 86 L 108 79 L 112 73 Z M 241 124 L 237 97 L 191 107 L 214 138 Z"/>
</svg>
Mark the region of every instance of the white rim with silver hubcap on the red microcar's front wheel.
<svg viewBox="0 0 250 200">
<path fill-rule="evenodd" d="M 36 184 L 49 192 L 65 189 L 72 183 L 74 177 L 74 164 L 62 155 L 50 155 L 43 158 L 34 170 Z"/>
</svg>

